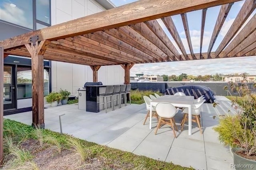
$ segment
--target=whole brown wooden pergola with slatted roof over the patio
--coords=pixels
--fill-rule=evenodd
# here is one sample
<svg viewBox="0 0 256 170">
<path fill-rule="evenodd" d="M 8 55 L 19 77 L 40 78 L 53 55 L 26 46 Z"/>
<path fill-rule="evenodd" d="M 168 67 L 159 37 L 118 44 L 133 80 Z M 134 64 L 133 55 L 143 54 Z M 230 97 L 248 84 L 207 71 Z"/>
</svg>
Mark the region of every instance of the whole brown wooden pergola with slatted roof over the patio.
<svg viewBox="0 0 256 170">
<path fill-rule="evenodd" d="M 1 74 L 8 55 L 32 59 L 33 123 L 44 127 L 43 60 L 89 65 L 93 81 L 98 81 L 100 66 L 121 65 L 125 84 L 130 82 L 130 68 L 137 63 L 157 63 L 251 56 L 256 53 L 256 15 L 242 28 L 256 7 L 256 0 L 246 0 L 228 33 L 215 52 L 212 47 L 234 2 L 239 0 L 140 0 L 76 20 L 0 41 Z M 219 6 L 220 13 L 207 53 L 202 42 L 207 8 Z M 200 53 L 194 53 L 187 12 L 202 10 Z M 190 49 L 186 53 L 171 18 L 180 14 Z M 161 19 L 182 54 L 174 47 L 156 19 Z M 207 23 L 206 23 L 207 24 Z M 234 38 L 234 36 L 238 35 Z M 234 39 L 233 39 L 234 38 Z M 231 41 L 232 40 L 232 41 Z M 3 82 L 1 81 L 1 130 L 3 117 Z M 2 133 L 1 133 L 2 134 Z M 2 136 L 1 136 L 2 141 Z M 2 147 L 1 147 L 2 148 Z M 1 151 L 2 153 L 2 151 Z"/>
</svg>

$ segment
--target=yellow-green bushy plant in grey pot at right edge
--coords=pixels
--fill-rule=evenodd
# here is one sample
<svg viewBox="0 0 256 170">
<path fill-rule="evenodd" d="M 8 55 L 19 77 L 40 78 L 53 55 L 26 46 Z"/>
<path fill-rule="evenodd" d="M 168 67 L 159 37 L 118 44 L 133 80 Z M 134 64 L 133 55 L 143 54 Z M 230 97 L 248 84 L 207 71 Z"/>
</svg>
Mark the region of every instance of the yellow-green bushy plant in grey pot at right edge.
<svg viewBox="0 0 256 170">
<path fill-rule="evenodd" d="M 246 75 L 244 75 L 246 80 Z M 219 134 L 219 139 L 224 145 L 232 147 L 234 168 L 256 168 L 256 93 L 251 92 L 246 82 L 240 86 L 233 82 L 228 83 L 225 90 L 231 94 L 236 91 L 239 100 L 232 99 L 232 107 L 236 114 L 220 115 L 219 125 L 214 131 Z M 256 88 L 256 84 L 254 84 Z M 215 105 L 216 106 L 216 105 Z M 214 117 L 215 118 L 215 117 Z"/>
</svg>

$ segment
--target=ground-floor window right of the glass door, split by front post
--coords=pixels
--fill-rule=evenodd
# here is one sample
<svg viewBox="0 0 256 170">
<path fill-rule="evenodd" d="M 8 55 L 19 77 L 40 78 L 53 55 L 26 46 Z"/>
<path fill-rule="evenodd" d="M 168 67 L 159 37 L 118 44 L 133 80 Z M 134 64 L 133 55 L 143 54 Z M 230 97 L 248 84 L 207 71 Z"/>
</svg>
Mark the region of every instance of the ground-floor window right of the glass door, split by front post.
<svg viewBox="0 0 256 170">
<path fill-rule="evenodd" d="M 44 96 L 49 94 L 49 70 L 44 69 Z M 30 66 L 17 67 L 17 99 L 32 98 L 32 71 Z"/>
</svg>

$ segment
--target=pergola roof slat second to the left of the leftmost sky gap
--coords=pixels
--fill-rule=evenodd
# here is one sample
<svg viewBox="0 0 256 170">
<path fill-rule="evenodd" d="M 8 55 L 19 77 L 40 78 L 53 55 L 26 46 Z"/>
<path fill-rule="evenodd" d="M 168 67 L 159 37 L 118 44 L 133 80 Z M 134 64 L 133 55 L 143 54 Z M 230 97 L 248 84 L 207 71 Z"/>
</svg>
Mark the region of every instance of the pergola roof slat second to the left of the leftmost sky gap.
<svg viewBox="0 0 256 170">
<path fill-rule="evenodd" d="M 130 25 L 132 29 L 137 31 L 140 35 L 142 35 L 144 38 L 146 38 L 148 41 L 156 45 L 158 49 L 160 49 L 163 53 L 167 55 L 166 61 L 174 61 L 174 54 L 158 39 L 158 37 L 152 32 L 151 29 L 147 27 L 145 23 L 136 23 L 133 25 Z"/>
</svg>

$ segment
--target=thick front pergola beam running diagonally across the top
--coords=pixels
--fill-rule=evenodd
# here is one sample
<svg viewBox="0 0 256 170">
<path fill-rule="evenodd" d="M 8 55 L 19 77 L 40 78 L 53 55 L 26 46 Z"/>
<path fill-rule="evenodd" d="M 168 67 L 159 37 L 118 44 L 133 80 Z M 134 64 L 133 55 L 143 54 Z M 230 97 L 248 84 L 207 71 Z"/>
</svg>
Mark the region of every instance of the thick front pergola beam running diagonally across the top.
<svg viewBox="0 0 256 170">
<path fill-rule="evenodd" d="M 3 46 L 4 49 L 8 49 L 18 45 L 28 44 L 32 36 L 38 36 L 38 41 L 74 37 L 236 1 L 239 0 L 140 0 L 90 16 L 6 39 L 0 41 L 0 46 Z"/>
</svg>

